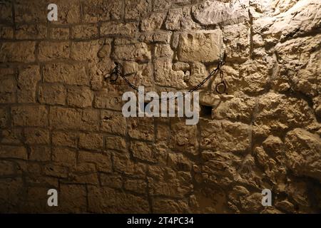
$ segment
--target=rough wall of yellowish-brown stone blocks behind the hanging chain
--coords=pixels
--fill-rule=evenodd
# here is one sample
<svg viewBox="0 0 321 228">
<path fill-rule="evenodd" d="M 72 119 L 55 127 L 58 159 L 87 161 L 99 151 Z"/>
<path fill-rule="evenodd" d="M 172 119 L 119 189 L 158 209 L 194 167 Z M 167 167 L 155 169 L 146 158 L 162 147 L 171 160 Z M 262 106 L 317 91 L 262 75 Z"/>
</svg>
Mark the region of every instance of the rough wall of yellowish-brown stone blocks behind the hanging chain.
<svg viewBox="0 0 321 228">
<path fill-rule="evenodd" d="M 0 1 L 0 212 L 320 212 L 319 0 L 49 3 Z M 123 118 L 104 80 L 188 89 L 224 52 L 198 125 Z"/>
</svg>

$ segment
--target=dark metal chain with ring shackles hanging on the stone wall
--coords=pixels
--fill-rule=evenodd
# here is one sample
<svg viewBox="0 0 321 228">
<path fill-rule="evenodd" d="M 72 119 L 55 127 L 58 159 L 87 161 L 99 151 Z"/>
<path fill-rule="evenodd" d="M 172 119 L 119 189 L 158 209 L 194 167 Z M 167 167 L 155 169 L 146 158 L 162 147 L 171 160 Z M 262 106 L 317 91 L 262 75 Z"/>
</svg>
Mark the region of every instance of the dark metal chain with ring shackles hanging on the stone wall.
<svg viewBox="0 0 321 228">
<path fill-rule="evenodd" d="M 190 90 L 188 90 L 188 93 L 193 93 L 195 90 L 198 90 L 201 86 L 203 86 L 211 77 L 215 76 L 216 73 L 218 73 L 218 71 L 220 71 L 221 73 L 221 82 L 218 83 L 218 85 L 216 85 L 215 87 L 215 90 L 217 93 L 225 93 L 226 91 L 226 84 L 225 84 L 225 81 L 223 80 L 223 71 L 221 70 L 221 67 L 224 66 L 225 64 L 225 58 L 226 58 L 226 55 L 224 54 L 223 58 L 220 59 L 220 62 L 218 63 L 218 66 L 217 68 L 215 68 L 213 71 L 210 72 L 210 74 L 204 78 L 203 81 L 201 81 L 200 83 L 198 83 L 197 86 L 191 88 Z M 121 76 L 121 78 L 123 78 L 123 80 L 126 82 L 126 84 L 133 88 L 133 90 L 136 90 L 138 93 L 141 93 L 140 90 L 138 90 L 138 87 L 133 85 L 130 81 L 128 81 L 128 79 L 123 76 L 123 74 L 121 73 L 121 69 L 120 69 L 120 64 L 119 63 L 116 63 L 116 67 L 113 69 L 113 72 L 111 73 L 111 82 L 112 83 L 115 83 L 118 79 L 118 76 Z M 221 92 L 219 90 L 219 86 L 223 85 L 223 92 Z M 143 93 L 144 96 L 146 96 L 147 94 L 146 93 Z M 158 98 L 157 100 L 175 100 L 177 98 L 184 98 L 186 95 L 186 93 L 184 93 L 183 95 L 179 95 L 179 96 L 175 96 L 175 97 L 171 97 L 171 98 Z"/>
</svg>

